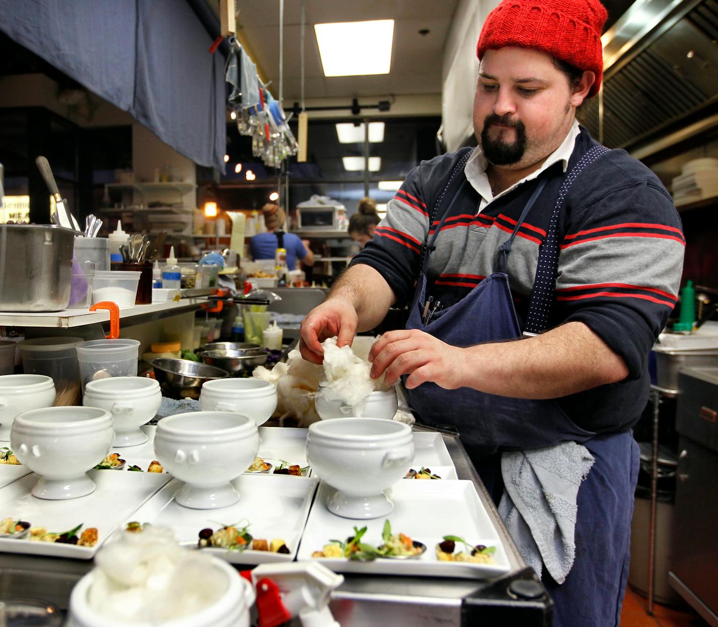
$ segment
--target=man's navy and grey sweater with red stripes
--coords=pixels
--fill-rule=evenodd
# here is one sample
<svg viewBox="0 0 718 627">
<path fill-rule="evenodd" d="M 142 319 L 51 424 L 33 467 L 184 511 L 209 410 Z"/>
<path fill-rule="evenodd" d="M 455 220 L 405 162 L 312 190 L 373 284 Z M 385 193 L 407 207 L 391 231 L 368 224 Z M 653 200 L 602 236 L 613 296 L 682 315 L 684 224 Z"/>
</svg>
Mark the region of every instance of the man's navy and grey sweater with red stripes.
<svg viewBox="0 0 718 627">
<path fill-rule="evenodd" d="M 569 170 L 595 146 L 584 128 Z M 424 161 L 389 202 L 386 219 L 353 264 L 378 270 L 398 306 L 411 301 L 421 245 L 450 202 L 442 192 L 470 148 Z M 436 240 L 427 296 L 445 306 L 467 295 L 495 268 L 497 250 L 516 226 L 538 181 L 548 179 L 521 225 L 508 260 L 519 321 L 528 309 L 538 249 L 546 237 L 561 184 L 560 162 L 478 211 L 481 197 L 465 185 Z M 455 188 L 454 188 L 455 189 Z M 681 220 L 661 181 L 623 150 L 612 150 L 584 171 L 569 190 L 559 225 L 559 275 L 551 326 L 581 321 L 625 361 L 628 379 L 559 400 L 569 418 L 598 433 L 625 430 L 648 397 L 648 354 L 677 301 L 685 240 Z"/>
</svg>

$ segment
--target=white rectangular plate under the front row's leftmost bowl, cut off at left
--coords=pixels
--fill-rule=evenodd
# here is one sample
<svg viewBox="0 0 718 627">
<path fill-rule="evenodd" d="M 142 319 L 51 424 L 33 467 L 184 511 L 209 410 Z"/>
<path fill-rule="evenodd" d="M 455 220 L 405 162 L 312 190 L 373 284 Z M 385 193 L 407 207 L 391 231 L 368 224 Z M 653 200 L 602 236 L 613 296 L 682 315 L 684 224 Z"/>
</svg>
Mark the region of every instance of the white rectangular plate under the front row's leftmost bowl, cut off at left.
<svg viewBox="0 0 718 627">
<path fill-rule="evenodd" d="M 48 532 L 57 533 L 69 531 L 82 522 L 83 529 L 97 528 L 97 545 L 78 547 L 0 538 L 0 551 L 90 560 L 115 529 L 171 479 L 169 475 L 155 473 L 90 471 L 89 475 L 97 485 L 92 494 L 66 501 L 46 501 L 30 494 L 38 478 L 29 474 L 0 489 L 0 516 L 26 520 L 32 527 L 46 527 Z"/>
</svg>

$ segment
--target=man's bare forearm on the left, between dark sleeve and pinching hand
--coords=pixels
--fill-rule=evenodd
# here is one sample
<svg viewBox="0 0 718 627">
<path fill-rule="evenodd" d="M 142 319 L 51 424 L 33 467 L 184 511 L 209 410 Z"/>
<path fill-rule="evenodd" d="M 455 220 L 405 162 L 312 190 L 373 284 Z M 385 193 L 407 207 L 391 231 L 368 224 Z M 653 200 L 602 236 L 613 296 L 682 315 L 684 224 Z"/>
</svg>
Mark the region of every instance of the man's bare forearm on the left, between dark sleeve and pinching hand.
<svg viewBox="0 0 718 627">
<path fill-rule="evenodd" d="M 341 298 L 355 308 L 359 318 L 357 331 L 373 329 L 396 302 L 396 296 L 383 276 L 363 263 L 348 268 L 327 298 Z"/>
</svg>

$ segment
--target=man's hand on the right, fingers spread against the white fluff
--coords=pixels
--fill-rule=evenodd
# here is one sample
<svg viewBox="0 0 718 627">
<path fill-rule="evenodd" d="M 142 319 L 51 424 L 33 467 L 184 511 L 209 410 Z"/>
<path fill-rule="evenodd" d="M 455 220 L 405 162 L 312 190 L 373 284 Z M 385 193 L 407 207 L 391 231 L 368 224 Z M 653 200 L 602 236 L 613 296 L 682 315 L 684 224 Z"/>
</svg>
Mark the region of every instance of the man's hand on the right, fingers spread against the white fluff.
<svg viewBox="0 0 718 627">
<path fill-rule="evenodd" d="M 465 385 L 465 349 L 453 347 L 424 331 L 389 331 L 371 347 L 371 376 L 386 372 L 387 385 L 401 374 L 410 374 L 406 387 L 413 390 L 431 381 L 447 390 Z"/>
</svg>

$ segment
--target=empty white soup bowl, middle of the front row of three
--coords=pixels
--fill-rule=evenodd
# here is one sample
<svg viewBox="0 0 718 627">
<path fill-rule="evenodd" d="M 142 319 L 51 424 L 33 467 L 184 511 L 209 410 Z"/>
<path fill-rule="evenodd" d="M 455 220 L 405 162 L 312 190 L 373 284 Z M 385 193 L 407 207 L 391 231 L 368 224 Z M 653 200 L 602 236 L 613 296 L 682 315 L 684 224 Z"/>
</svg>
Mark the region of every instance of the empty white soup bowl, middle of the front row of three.
<svg viewBox="0 0 718 627">
<path fill-rule="evenodd" d="M 230 484 L 246 471 L 259 448 L 257 425 L 229 412 L 191 412 L 157 423 L 154 453 L 173 476 L 185 481 L 174 500 L 192 509 L 233 505 L 239 493 Z"/>
</svg>

